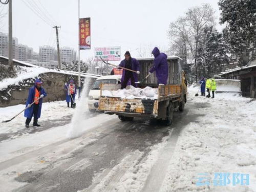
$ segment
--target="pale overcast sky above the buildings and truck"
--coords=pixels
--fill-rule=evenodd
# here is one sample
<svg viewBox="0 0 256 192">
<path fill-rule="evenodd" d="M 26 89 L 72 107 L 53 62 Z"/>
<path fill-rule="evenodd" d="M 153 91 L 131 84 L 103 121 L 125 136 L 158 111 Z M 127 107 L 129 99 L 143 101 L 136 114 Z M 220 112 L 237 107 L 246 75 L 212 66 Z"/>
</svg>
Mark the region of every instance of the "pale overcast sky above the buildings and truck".
<svg viewBox="0 0 256 192">
<path fill-rule="evenodd" d="M 56 47 L 56 35 L 52 27 L 58 25 L 61 26 L 60 47 L 78 49 L 78 0 L 12 2 L 13 36 L 18 38 L 20 44 L 28 45 L 36 52 L 42 45 Z M 38 13 L 34 3 L 44 13 Z M 167 50 L 169 23 L 184 15 L 188 8 L 202 3 L 212 5 L 216 10 L 216 17 L 219 18 L 218 0 L 80 0 L 80 17 L 91 17 L 92 44 L 91 50 L 81 50 L 81 59 L 92 57 L 94 47 L 101 46 L 121 46 L 122 55 L 130 50 L 134 57 L 139 55 L 138 49 L 151 50 L 157 46 Z M 4 7 L 8 11 L 8 6 L 0 6 L 0 9 Z M 5 26 L 0 31 L 8 33 L 8 17 L 2 19 L 1 23 Z M 218 24 L 217 29 L 222 28 Z"/>
</svg>

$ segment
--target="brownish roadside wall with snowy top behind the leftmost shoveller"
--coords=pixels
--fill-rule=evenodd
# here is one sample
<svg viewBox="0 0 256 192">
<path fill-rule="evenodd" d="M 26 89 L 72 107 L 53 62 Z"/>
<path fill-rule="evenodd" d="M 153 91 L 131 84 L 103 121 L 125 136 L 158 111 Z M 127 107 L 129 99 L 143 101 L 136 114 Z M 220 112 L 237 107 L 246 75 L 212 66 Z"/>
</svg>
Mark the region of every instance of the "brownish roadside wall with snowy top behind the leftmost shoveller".
<svg viewBox="0 0 256 192">
<path fill-rule="evenodd" d="M 78 82 L 77 76 L 53 72 L 40 74 L 38 77 L 44 82 L 42 87 L 44 87 L 47 92 L 47 97 L 44 98 L 44 102 L 65 100 L 65 82 L 70 79 L 74 79 L 76 85 Z M 18 85 L 11 85 L 7 89 L 0 91 L 0 107 L 26 103 L 29 88 L 34 85 L 35 78 L 24 79 L 22 82 L 19 82 Z M 81 82 L 83 82 L 83 80 L 84 78 L 82 78 Z M 95 79 L 91 78 L 90 84 L 94 81 Z"/>
</svg>

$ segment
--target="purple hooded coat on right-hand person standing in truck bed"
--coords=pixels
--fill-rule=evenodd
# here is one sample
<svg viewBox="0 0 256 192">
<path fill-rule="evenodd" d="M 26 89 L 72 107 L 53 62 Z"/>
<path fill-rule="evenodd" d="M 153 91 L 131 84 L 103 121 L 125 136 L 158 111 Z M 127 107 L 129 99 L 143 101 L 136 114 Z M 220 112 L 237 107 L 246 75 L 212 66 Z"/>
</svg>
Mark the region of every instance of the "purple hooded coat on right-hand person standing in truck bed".
<svg viewBox="0 0 256 192">
<path fill-rule="evenodd" d="M 158 84 L 167 84 L 168 79 L 168 63 L 167 55 L 165 53 L 160 53 L 159 49 L 155 47 L 152 51 L 154 55 L 154 63 L 150 72 L 156 71 L 156 76 L 158 79 Z"/>
</svg>

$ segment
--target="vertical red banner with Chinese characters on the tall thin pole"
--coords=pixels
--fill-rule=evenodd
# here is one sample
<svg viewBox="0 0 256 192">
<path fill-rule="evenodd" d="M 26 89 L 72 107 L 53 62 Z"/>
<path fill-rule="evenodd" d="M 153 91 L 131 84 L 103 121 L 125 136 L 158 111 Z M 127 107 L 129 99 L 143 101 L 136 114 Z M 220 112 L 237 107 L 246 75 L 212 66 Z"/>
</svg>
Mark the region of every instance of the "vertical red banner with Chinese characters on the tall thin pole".
<svg viewBox="0 0 256 192">
<path fill-rule="evenodd" d="M 91 49 L 91 18 L 79 19 L 80 50 Z"/>
</svg>

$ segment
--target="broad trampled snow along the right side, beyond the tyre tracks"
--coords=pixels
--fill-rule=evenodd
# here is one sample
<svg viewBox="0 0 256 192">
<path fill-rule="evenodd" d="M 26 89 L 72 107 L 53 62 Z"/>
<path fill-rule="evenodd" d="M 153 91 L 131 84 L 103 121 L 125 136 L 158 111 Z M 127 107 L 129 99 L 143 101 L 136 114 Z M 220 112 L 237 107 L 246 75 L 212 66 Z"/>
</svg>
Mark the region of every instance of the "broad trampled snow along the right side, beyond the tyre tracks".
<svg viewBox="0 0 256 192">
<path fill-rule="evenodd" d="M 180 133 L 160 191 L 256 191 L 256 101 L 231 93 L 195 97 L 196 90 L 189 90 L 186 114 L 194 120 Z M 216 173 L 230 173 L 230 183 L 214 185 Z M 232 186 L 233 173 L 249 174 L 249 185 Z"/>
</svg>

